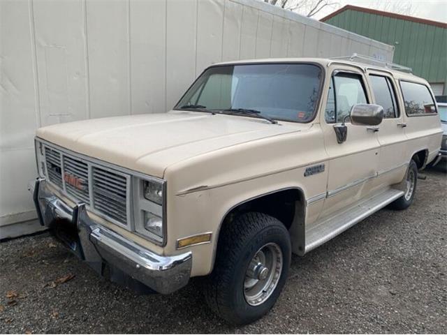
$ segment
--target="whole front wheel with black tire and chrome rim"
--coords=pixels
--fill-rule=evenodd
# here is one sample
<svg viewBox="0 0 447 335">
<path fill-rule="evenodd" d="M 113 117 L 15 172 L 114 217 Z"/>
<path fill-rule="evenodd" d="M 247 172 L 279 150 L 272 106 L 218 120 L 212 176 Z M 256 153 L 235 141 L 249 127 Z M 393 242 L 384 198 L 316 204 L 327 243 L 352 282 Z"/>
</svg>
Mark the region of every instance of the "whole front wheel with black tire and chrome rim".
<svg viewBox="0 0 447 335">
<path fill-rule="evenodd" d="M 223 226 L 205 300 L 234 325 L 268 313 L 281 293 L 291 262 L 291 241 L 272 216 L 247 213 Z"/>
</svg>

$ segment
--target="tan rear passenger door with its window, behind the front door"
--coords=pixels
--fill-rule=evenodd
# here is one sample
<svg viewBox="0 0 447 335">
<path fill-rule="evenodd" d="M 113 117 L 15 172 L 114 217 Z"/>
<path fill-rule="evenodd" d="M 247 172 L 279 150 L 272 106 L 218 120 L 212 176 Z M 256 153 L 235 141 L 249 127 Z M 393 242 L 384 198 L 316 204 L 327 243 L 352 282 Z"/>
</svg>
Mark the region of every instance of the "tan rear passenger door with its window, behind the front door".
<svg viewBox="0 0 447 335">
<path fill-rule="evenodd" d="M 383 121 L 376 127 L 380 143 L 378 178 L 376 188 L 396 184 L 402 180 L 406 169 L 406 135 L 403 108 L 397 98 L 397 84 L 391 75 L 381 71 L 367 74 L 372 92 L 372 103 L 383 107 Z"/>
</svg>

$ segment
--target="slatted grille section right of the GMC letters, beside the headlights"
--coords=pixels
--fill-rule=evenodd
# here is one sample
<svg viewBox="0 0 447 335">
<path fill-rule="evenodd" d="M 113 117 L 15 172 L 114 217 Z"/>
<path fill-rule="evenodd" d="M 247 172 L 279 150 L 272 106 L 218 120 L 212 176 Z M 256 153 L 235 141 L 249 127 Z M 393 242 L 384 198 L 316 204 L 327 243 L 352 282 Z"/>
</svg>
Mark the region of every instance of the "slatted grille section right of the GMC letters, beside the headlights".
<svg viewBox="0 0 447 335">
<path fill-rule="evenodd" d="M 93 168 L 94 207 L 116 221 L 126 223 L 126 177 L 110 170 Z"/>
</svg>

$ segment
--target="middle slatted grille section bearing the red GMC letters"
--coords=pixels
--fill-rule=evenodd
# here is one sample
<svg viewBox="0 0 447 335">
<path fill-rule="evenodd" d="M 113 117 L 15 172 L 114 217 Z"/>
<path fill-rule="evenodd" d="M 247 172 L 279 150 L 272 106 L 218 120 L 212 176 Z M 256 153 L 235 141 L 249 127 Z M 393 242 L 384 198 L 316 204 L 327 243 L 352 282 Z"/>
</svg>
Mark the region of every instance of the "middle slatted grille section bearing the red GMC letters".
<svg viewBox="0 0 447 335">
<path fill-rule="evenodd" d="M 78 187 L 73 186 L 70 183 L 71 176 L 78 178 L 80 181 Z M 86 204 L 90 204 L 89 167 L 87 163 L 75 158 L 64 156 L 64 177 L 68 179 L 68 181 L 64 180 L 67 193 L 73 195 L 76 199 L 82 200 Z"/>
</svg>

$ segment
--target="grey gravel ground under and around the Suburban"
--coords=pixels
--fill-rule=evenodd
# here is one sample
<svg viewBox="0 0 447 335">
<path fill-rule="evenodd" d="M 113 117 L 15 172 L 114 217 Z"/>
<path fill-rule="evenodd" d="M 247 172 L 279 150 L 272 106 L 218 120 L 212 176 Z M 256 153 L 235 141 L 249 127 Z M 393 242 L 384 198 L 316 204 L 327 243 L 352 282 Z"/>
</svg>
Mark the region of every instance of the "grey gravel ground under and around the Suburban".
<svg viewBox="0 0 447 335">
<path fill-rule="evenodd" d="M 173 295 L 138 296 L 47 234 L 5 241 L 0 333 L 445 333 L 447 177 L 426 175 L 406 211 L 383 209 L 293 256 L 273 310 L 245 327 L 212 315 L 197 281 Z"/>
</svg>

